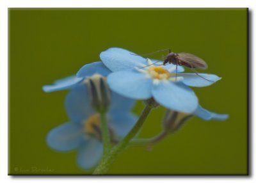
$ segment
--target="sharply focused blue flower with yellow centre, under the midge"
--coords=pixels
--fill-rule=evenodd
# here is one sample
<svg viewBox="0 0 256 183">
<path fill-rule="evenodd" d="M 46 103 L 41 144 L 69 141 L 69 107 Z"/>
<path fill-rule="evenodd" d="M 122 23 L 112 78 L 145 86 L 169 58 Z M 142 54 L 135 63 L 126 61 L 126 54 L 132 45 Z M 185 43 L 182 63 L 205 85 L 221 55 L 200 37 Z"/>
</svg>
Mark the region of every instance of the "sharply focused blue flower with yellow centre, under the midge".
<svg viewBox="0 0 256 183">
<path fill-rule="evenodd" d="M 111 90 L 131 99 L 154 97 L 162 106 L 184 113 L 193 113 L 198 99 L 188 86 L 209 86 L 221 78 L 212 74 L 180 73 L 183 67 L 159 66 L 133 52 L 110 48 L 100 53 L 100 59 L 113 73 L 108 76 Z M 176 77 L 177 75 L 177 77 Z M 214 82 L 211 82 L 214 81 Z"/>
</svg>

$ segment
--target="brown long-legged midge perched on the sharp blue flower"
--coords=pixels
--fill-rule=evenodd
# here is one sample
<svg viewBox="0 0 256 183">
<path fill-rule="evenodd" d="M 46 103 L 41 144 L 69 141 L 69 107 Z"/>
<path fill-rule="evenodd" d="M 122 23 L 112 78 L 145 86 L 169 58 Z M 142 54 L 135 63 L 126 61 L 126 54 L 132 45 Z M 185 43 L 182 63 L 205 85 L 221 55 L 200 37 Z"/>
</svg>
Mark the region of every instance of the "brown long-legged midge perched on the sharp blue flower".
<svg viewBox="0 0 256 183">
<path fill-rule="evenodd" d="M 163 65 L 166 65 L 168 63 L 169 64 L 172 63 L 173 65 L 176 65 L 176 78 L 177 78 L 178 65 L 190 68 L 199 77 L 202 77 L 202 76 L 200 76 L 198 74 L 198 72 L 196 72 L 195 69 L 196 68 L 199 68 L 199 69 L 207 69 L 208 68 L 207 63 L 205 63 L 205 61 L 202 60 L 202 58 L 199 58 L 198 56 L 195 56 L 195 55 L 187 53 L 187 52 L 180 52 L 180 53 L 171 52 L 171 49 L 161 49 L 159 51 L 151 52 L 149 54 L 141 54 L 141 56 L 147 56 L 147 55 L 155 54 L 155 53 L 161 52 L 161 51 L 169 51 L 169 54 L 164 58 Z M 133 54 L 133 55 L 138 56 L 138 54 Z M 155 63 L 158 63 L 158 62 L 159 61 L 156 61 Z M 155 63 L 152 63 L 152 65 L 154 65 Z M 146 67 L 148 67 L 148 66 L 149 65 L 147 65 Z M 202 77 L 202 79 L 205 79 L 205 78 Z M 205 79 L 205 80 L 211 81 L 209 79 Z M 214 81 L 211 81 L 211 82 L 214 82 Z"/>
</svg>

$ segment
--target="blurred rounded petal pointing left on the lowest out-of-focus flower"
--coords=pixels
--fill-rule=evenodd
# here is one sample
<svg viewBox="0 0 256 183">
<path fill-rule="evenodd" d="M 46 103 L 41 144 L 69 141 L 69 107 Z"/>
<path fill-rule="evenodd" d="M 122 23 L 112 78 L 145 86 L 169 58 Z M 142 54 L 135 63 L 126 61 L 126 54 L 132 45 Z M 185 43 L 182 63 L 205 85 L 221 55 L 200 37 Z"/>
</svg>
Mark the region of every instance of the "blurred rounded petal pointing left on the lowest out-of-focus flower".
<svg viewBox="0 0 256 183">
<path fill-rule="evenodd" d="M 65 123 L 52 129 L 47 136 L 47 144 L 54 150 L 73 150 L 85 140 L 84 129 L 77 123 Z"/>
</svg>

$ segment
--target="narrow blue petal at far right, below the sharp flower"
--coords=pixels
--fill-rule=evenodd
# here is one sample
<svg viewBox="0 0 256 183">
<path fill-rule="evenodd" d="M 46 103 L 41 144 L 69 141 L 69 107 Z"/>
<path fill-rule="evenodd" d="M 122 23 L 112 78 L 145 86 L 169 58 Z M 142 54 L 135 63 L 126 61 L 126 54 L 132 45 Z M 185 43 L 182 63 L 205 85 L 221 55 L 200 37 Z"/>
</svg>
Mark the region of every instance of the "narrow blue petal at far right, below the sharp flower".
<svg viewBox="0 0 256 183">
<path fill-rule="evenodd" d="M 203 120 L 218 120 L 218 121 L 224 121 L 227 120 L 228 115 L 220 115 L 217 113 L 212 113 L 210 111 L 207 111 L 202 106 L 198 105 L 196 108 L 196 111 L 194 112 L 194 115 L 198 116 L 199 118 L 202 118 Z"/>
</svg>

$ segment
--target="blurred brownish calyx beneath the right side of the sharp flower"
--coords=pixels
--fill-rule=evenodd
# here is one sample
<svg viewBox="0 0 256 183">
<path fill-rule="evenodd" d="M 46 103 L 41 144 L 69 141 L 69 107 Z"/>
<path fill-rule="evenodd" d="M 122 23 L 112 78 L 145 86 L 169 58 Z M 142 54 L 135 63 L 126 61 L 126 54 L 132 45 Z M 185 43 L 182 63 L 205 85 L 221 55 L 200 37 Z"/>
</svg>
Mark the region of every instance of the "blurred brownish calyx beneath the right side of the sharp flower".
<svg viewBox="0 0 256 183">
<path fill-rule="evenodd" d="M 168 133 L 176 132 L 193 115 L 189 113 L 179 113 L 177 111 L 167 110 L 163 120 L 164 131 Z"/>
</svg>

